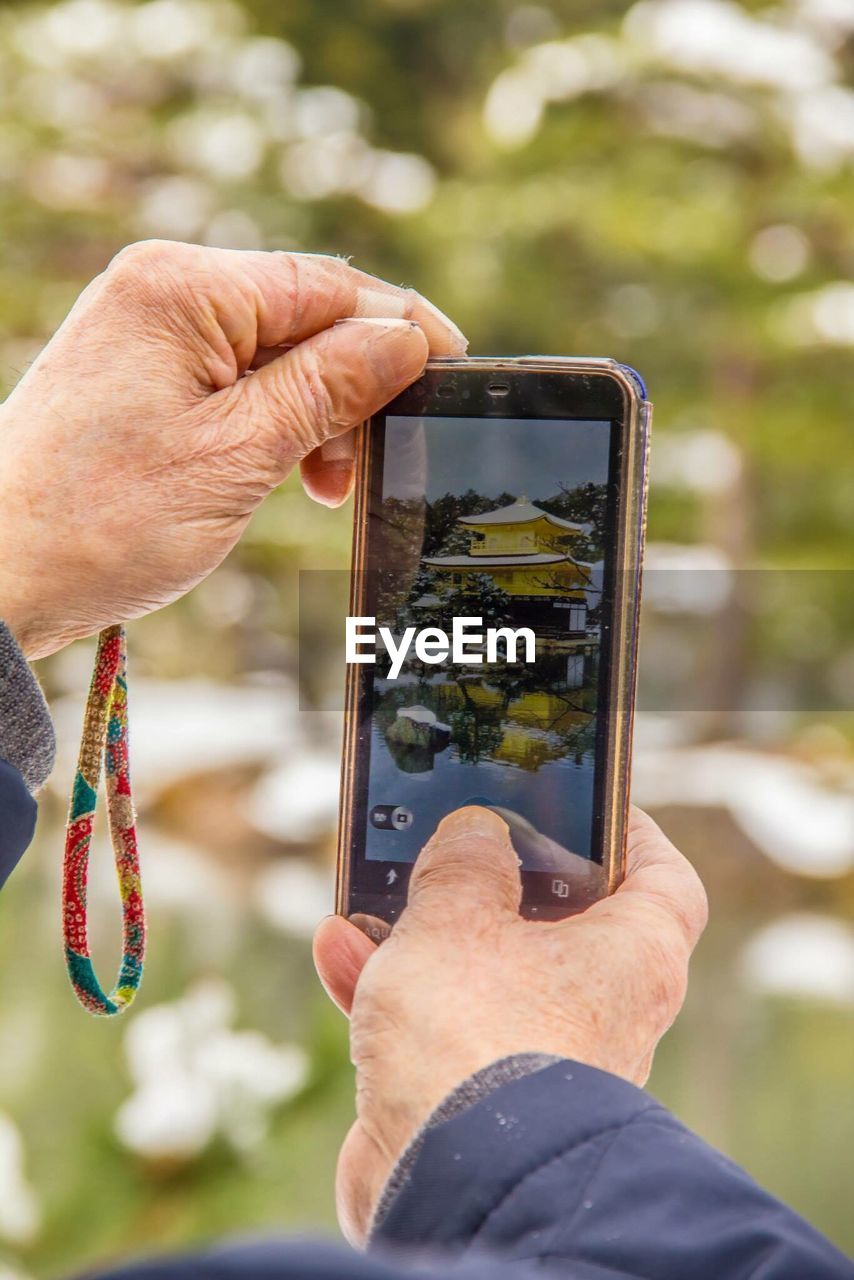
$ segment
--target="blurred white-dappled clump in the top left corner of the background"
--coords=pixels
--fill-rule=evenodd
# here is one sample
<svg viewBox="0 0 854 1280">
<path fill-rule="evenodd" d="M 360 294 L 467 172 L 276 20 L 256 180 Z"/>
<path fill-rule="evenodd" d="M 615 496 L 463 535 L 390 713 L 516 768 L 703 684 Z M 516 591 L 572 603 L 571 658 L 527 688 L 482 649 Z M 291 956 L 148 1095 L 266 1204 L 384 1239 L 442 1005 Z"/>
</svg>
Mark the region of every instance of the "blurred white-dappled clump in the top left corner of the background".
<svg viewBox="0 0 854 1280">
<path fill-rule="evenodd" d="M 61 0 L 5 20 L 17 60 L 3 67 L 0 104 L 17 127 L 0 136 L 0 175 L 24 165 L 32 198 L 50 209 L 111 206 L 140 236 L 242 248 L 265 239 L 234 206 L 234 186 L 250 179 L 278 180 L 297 200 L 351 195 L 391 215 L 433 197 L 426 160 L 373 147 L 366 105 L 301 86 L 296 50 L 247 32 L 229 0 Z M 168 123 L 145 127 L 159 109 Z"/>
</svg>

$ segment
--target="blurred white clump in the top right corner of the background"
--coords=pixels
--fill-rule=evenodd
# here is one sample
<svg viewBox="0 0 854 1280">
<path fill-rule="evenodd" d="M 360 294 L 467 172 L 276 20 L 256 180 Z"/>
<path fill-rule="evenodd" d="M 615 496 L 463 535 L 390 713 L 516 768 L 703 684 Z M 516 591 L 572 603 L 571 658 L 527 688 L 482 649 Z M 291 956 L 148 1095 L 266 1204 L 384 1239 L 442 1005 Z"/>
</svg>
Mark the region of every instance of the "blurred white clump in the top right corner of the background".
<svg viewBox="0 0 854 1280">
<path fill-rule="evenodd" d="M 854 92 L 837 58 L 851 13 L 849 0 L 759 14 L 734 0 L 640 0 L 613 37 L 511 41 L 519 52 L 487 92 L 484 127 L 498 146 L 521 147 L 549 104 L 604 92 L 653 133 L 726 147 L 759 138 L 749 97 L 759 95 L 805 168 L 835 169 L 854 155 Z"/>
</svg>

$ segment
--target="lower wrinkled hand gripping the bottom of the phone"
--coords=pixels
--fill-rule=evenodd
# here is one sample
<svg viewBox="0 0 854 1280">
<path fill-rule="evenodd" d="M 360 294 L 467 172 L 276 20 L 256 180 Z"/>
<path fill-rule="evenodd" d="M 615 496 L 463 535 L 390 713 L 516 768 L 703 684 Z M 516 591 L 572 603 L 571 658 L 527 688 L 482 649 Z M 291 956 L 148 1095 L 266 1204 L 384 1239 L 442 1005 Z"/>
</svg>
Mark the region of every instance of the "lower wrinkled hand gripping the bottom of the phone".
<svg viewBox="0 0 854 1280">
<path fill-rule="evenodd" d="M 644 813 L 632 812 L 612 897 L 542 923 L 517 914 L 520 892 L 506 823 L 460 809 L 421 852 L 380 947 L 341 916 L 318 929 L 318 973 L 351 1014 L 357 1120 L 338 1162 L 338 1217 L 353 1243 L 408 1140 L 466 1076 L 544 1052 L 643 1084 L 681 1007 L 705 895 Z"/>
</svg>

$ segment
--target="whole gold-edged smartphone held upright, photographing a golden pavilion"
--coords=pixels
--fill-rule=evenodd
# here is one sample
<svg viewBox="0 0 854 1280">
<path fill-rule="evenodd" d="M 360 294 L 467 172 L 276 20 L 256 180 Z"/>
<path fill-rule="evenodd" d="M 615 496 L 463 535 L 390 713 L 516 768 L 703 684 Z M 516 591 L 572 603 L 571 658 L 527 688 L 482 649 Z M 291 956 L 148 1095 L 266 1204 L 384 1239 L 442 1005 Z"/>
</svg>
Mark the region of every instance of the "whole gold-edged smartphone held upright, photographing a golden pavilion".
<svg viewBox="0 0 854 1280">
<path fill-rule="evenodd" d="M 337 910 L 375 938 L 466 804 L 528 918 L 620 883 L 650 417 L 613 360 L 469 357 L 361 428 Z"/>
</svg>

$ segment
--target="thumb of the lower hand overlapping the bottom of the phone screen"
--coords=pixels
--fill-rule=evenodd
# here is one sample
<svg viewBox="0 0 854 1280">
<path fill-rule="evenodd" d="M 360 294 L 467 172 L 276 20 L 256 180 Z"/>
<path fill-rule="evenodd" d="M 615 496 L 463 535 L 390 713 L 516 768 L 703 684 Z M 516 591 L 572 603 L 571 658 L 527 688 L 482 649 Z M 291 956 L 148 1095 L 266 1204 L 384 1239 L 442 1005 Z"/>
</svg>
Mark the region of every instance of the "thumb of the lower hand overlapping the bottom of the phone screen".
<svg viewBox="0 0 854 1280">
<path fill-rule="evenodd" d="M 442 915 L 519 913 L 521 878 L 510 828 L 492 809 L 448 814 L 412 869 L 408 906 Z"/>
</svg>

